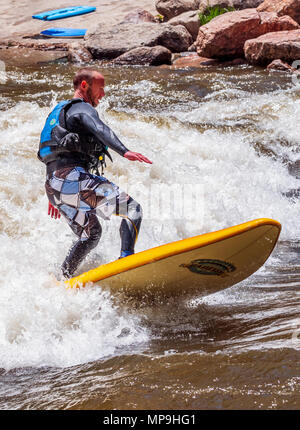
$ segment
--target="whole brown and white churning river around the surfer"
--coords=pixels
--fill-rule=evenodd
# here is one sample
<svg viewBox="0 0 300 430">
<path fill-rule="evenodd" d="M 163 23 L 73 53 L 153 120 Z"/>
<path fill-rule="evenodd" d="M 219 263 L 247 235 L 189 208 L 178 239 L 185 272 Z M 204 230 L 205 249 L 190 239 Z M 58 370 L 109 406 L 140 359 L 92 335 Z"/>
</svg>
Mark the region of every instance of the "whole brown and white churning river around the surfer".
<svg viewBox="0 0 300 430">
<path fill-rule="evenodd" d="M 142 205 L 154 185 L 201 190 L 197 216 L 146 217 L 137 251 L 261 217 L 283 227 L 240 284 L 137 303 L 55 279 L 73 236 L 47 216 L 36 152 L 74 71 L 8 67 L 0 86 L 0 408 L 299 408 L 300 82 L 249 66 L 103 69 L 99 114 L 153 161 L 115 154 L 106 176 Z M 82 271 L 118 257 L 119 222 L 103 224 Z"/>
</svg>

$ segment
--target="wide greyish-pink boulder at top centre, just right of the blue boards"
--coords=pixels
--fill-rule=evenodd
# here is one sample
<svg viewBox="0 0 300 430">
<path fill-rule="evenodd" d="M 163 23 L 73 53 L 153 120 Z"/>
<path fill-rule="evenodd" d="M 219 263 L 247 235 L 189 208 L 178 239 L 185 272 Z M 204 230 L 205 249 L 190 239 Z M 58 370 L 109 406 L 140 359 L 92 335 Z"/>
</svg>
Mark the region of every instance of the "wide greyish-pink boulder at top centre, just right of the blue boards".
<svg viewBox="0 0 300 430">
<path fill-rule="evenodd" d="M 140 46 L 162 45 L 171 52 L 186 51 L 192 44 L 190 33 L 182 25 L 123 23 L 100 24 L 85 35 L 85 47 L 96 59 L 114 59 Z"/>
</svg>

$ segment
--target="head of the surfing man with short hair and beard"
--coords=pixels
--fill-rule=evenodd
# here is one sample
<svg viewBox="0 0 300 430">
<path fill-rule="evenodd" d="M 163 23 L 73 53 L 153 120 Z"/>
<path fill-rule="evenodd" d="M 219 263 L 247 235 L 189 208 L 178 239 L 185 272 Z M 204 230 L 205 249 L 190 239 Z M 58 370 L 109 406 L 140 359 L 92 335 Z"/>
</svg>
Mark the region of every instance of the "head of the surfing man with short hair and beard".
<svg viewBox="0 0 300 430">
<path fill-rule="evenodd" d="M 79 70 L 73 79 L 75 96 L 83 98 L 85 102 L 90 103 L 93 107 L 98 106 L 104 92 L 104 76 L 93 69 Z"/>
</svg>

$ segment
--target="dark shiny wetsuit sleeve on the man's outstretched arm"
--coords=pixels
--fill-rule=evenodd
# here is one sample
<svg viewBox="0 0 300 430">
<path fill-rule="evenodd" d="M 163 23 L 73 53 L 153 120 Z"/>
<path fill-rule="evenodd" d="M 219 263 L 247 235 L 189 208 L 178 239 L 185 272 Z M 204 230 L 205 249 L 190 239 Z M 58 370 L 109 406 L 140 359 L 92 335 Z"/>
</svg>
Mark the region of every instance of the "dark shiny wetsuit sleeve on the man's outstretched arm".
<svg viewBox="0 0 300 430">
<path fill-rule="evenodd" d="M 98 112 L 87 103 L 80 103 L 80 112 L 74 112 L 69 119 L 68 124 L 73 124 L 81 133 L 92 135 L 96 142 L 101 145 L 108 146 L 113 151 L 121 156 L 128 151 L 126 146 L 120 141 L 116 134 L 101 121 Z M 74 108 L 78 106 L 74 106 Z M 70 109 L 71 110 L 71 109 Z"/>
</svg>

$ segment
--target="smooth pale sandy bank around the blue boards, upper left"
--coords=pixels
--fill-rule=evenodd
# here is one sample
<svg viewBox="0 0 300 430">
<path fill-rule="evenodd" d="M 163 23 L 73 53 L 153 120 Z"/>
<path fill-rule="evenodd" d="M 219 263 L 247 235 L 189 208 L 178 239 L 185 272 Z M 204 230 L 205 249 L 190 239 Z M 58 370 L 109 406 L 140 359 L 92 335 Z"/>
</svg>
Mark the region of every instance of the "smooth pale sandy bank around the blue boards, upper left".
<svg viewBox="0 0 300 430">
<path fill-rule="evenodd" d="M 72 6 L 82 5 L 81 0 L 72 0 L 71 3 Z M 91 29 L 101 23 L 114 25 L 137 8 L 157 13 L 154 0 L 139 0 L 138 5 L 131 0 L 87 0 L 84 4 L 97 9 L 86 15 L 46 22 L 33 19 L 32 15 L 66 7 L 66 2 L 53 0 L 49 6 L 46 0 L 34 3 L 0 0 L 0 26 L 5 29 L 0 38 L 0 60 L 8 65 L 22 66 L 67 58 L 69 49 L 83 45 L 83 39 L 43 38 L 39 36 L 40 32 L 53 27 Z"/>
</svg>

